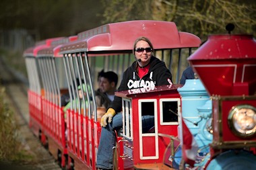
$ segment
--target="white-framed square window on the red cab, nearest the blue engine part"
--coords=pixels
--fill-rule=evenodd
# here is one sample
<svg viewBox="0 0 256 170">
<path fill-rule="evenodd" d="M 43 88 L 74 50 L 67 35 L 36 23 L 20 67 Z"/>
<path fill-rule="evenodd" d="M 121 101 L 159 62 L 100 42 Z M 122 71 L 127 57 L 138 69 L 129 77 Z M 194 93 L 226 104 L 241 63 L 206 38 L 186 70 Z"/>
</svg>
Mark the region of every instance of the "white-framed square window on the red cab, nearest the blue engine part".
<svg viewBox="0 0 256 170">
<path fill-rule="evenodd" d="M 160 124 L 178 124 L 178 115 L 181 112 L 180 99 L 160 99 Z"/>
</svg>

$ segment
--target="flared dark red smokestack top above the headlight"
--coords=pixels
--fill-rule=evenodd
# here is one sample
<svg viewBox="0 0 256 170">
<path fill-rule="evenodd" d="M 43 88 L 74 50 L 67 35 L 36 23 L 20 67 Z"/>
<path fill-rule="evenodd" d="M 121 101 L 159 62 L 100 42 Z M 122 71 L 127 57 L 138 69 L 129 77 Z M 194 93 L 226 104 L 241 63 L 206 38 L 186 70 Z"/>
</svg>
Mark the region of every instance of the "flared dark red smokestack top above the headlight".
<svg viewBox="0 0 256 170">
<path fill-rule="evenodd" d="M 254 95 L 255 48 L 252 35 L 210 36 L 189 61 L 210 95 Z"/>
</svg>

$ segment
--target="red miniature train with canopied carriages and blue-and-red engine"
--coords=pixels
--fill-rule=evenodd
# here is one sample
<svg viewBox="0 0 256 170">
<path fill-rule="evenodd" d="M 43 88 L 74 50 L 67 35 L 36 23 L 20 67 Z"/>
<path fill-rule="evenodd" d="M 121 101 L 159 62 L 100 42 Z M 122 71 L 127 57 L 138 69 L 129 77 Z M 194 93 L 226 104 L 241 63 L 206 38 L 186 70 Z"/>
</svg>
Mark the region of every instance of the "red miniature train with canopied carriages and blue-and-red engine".
<svg viewBox="0 0 256 170">
<path fill-rule="evenodd" d="M 61 167 L 96 169 L 101 130 L 96 75 L 104 69 L 121 78 L 134 60 L 132 45 L 139 36 L 152 41 L 174 84 L 115 93 L 122 97 L 123 128 L 113 148 L 114 169 L 255 169 L 253 36 L 209 36 L 199 47 L 197 36 L 179 32 L 173 22 L 146 20 L 50 38 L 24 52 L 30 128 Z M 180 85 L 187 58 L 199 79 Z M 86 95 L 65 113 L 61 97 L 68 93 L 74 100 L 83 82 Z M 155 118 L 148 132 L 141 130 L 145 112 Z"/>
</svg>

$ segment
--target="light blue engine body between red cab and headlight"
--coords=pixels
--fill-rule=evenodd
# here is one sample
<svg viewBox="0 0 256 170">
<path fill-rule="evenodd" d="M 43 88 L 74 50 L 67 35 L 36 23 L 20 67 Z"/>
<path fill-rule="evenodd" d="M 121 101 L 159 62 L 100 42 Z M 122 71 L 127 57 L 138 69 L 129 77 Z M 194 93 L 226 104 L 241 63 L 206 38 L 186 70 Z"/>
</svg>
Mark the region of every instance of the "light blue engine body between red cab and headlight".
<svg viewBox="0 0 256 170">
<path fill-rule="evenodd" d="M 212 142 L 212 134 L 207 131 L 207 125 L 211 124 L 212 120 L 212 101 L 199 79 L 187 79 L 185 85 L 178 91 L 181 95 L 183 120 L 199 146 L 196 166 L 200 167 L 204 163 L 202 159 L 210 152 L 209 144 Z M 181 128 L 179 134 L 182 134 Z M 181 161 L 178 159 L 181 153 L 177 151 L 175 162 Z"/>
</svg>

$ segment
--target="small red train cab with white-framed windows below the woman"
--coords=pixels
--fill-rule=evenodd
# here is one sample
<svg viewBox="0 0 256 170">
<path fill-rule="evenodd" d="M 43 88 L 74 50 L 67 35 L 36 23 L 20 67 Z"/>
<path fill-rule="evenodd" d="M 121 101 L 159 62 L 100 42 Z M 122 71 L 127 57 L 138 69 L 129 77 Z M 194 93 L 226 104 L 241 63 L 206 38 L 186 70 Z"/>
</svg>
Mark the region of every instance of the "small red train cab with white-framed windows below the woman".
<svg viewBox="0 0 256 170">
<path fill-rule="evenodd" d="M 163 160 L 166 148 L 172 147 L 174 151 L 179 143 L 179 87 L 182 85 L 116 92 L 117 96 L 122 97 L 123 102 L 123 130 L 117 141 L 117 148 L 124 169 L 170 168 L 164 165 Z M 144 116 L 154 116 L 152 127 L 143 128 Z"/>
</svg>

